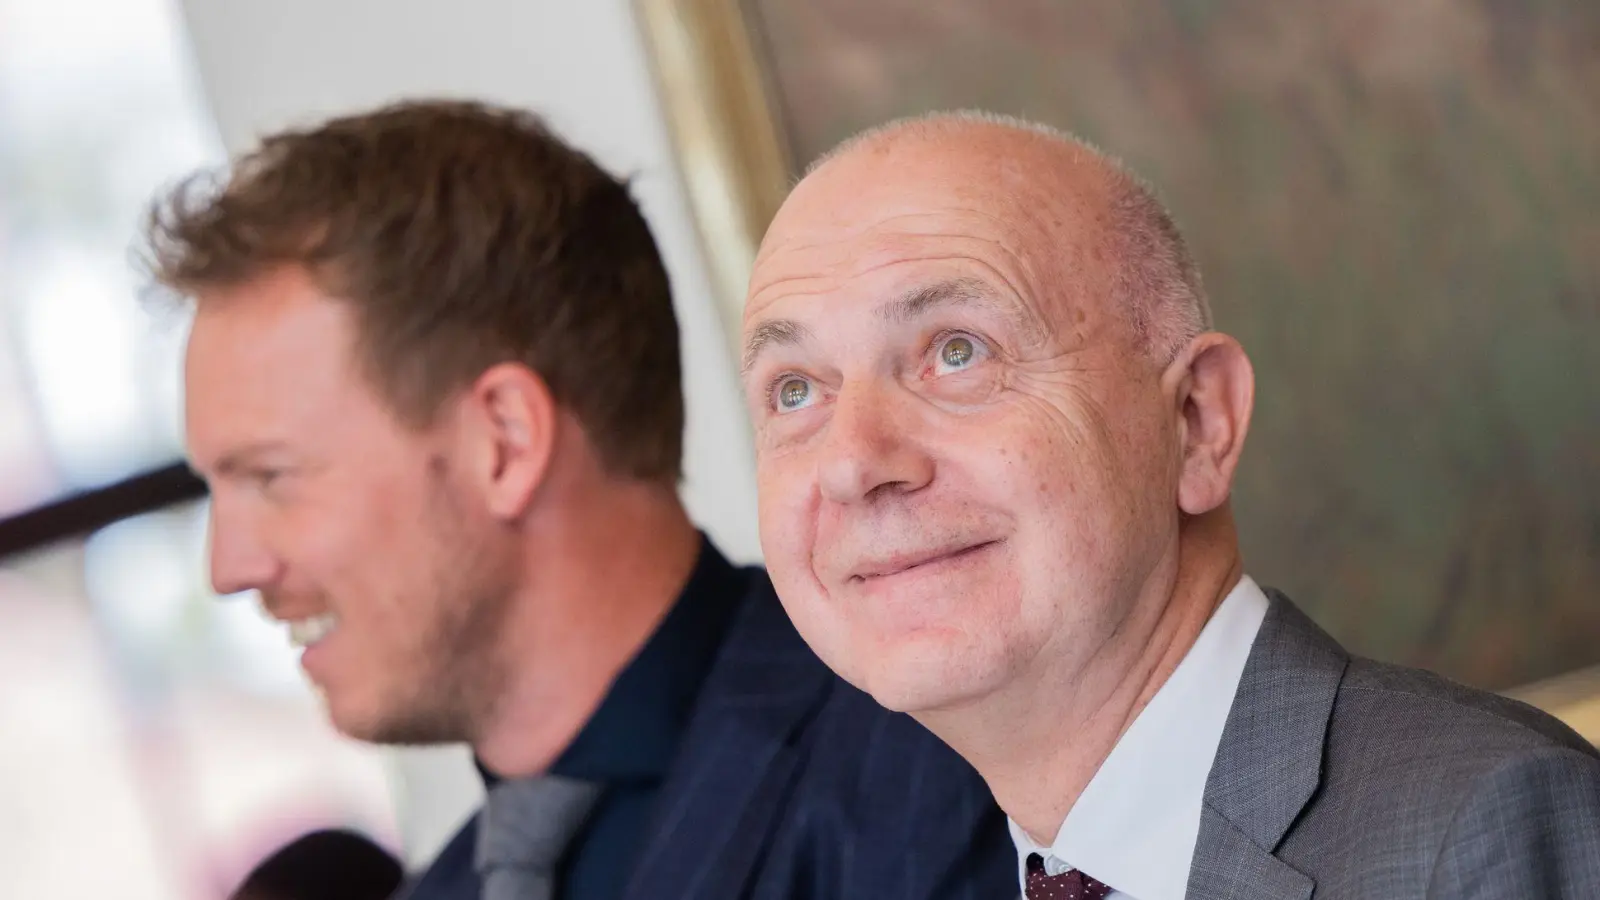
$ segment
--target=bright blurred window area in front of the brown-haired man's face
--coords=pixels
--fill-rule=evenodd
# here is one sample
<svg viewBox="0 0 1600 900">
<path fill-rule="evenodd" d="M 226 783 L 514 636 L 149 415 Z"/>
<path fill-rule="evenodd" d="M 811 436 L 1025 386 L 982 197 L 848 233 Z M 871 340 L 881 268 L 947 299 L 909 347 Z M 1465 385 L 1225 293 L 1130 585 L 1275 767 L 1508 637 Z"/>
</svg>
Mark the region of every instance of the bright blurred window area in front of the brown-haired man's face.
<svg viewBox="0 0 1600 900">
<path fill-rule="evenodd" d="M 301 831 L 398 838 L 282 629 L 206 591 L 192 484 L 51 506 L 181 458 L 182 322 L 128 253 L 152 191 L 222 159 L 174 5 L 0 0 L 3 897 L 221 897 Z"/>
</svg>

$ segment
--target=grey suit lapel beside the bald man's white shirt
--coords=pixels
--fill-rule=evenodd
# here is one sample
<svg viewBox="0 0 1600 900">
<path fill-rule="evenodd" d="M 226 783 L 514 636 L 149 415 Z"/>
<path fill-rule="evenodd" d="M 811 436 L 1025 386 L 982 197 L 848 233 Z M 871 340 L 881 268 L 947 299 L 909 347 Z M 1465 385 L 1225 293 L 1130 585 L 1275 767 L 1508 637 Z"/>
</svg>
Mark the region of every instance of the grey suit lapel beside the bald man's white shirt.
<svg viewBox="0 0 1600 900">
<path fill-rule="evenodd" d="M 1328 717 L 1349 657 L 1283 594 L 1261 623 L 1206 778 L 1194 898 L 1309 897 L 1272 855 L 1322 783 Z"/>
</svg>

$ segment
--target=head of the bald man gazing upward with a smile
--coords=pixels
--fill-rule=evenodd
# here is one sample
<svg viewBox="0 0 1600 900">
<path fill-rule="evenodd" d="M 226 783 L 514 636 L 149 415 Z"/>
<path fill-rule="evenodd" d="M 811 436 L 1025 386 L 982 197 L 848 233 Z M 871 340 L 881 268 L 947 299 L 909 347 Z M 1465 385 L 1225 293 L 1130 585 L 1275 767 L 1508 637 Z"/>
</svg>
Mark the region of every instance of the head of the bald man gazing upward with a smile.
<svg viewBox="0 0 1600 900">
<path fill-rule="evenodd" d="M 1235 552 L 1253 381 L 1206 328 L 1171 218 L 1082 141 L 941 115 L 829 155 L 744 309 L 762 549 L 800 634 L 934 716 L 1106 658 L 1179 560 Z"/>
</svg>

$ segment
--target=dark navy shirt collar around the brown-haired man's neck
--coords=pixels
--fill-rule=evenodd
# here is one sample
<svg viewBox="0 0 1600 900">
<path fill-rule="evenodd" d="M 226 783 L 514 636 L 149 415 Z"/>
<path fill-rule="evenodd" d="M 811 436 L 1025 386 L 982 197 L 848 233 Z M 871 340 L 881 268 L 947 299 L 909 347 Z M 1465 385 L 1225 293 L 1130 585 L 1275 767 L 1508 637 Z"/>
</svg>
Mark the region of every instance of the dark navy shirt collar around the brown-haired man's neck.
<svg viewBox="0 0 1600 900">
<path fill-rule="evenodd" d="M 701 536 L 694 572 L 672 610 L 618 673 L 550 773 L 606 785 L 664 778 L 744 593 L 746 573 Z M 493 788 L 498 778 L 482 764 L 478 772 Z"/>
</svg>

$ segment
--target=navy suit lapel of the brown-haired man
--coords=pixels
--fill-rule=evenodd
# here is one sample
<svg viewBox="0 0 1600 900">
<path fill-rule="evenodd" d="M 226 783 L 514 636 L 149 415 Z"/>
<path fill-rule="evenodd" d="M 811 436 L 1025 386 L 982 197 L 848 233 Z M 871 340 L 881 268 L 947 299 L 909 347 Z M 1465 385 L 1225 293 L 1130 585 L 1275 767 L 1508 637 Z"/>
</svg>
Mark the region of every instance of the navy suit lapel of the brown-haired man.
<svg viewBox="0 0 1600 900">
<path fill-rule="evenodd" d="M 797 777 L 792 738 L 832 685 L 757 575 L 696 701 L 627 900 L 742 895 Z"/>
</svg>

